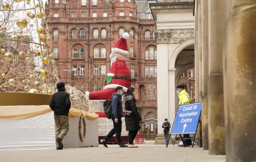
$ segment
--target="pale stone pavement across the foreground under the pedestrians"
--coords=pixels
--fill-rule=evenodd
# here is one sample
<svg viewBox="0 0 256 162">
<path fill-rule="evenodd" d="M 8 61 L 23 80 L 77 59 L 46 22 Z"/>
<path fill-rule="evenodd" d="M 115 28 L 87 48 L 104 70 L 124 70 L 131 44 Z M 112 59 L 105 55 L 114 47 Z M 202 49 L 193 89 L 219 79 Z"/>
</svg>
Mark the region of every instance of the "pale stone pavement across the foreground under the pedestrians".
<svg viewBox="0 0 256 162">
<path fill-rule="evenodd" d="M 226 156 L 209 155 L 198 147 L 154 145 L 154 141 L 138 144 L 138 148 L 84 147 L 64 150 L 0 151 L 0 162 L 225 162 Z"/>
</svg>

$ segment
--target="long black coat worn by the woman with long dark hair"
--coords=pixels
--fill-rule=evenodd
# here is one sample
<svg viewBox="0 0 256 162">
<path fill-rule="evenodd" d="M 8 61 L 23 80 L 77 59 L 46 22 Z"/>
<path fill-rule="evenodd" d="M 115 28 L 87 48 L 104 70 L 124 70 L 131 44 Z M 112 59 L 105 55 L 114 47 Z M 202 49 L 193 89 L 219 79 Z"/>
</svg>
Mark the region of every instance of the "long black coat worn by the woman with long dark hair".
<svg viewBox="0 0 256 162">
<path fill-rule="evenodd" d="M 140 121 L 142 120 L 135 104 L 136 100 L 132 95 L 124 95 L 122 100 L 125 101 L 125 110 L 132 111 L 131 116 L 124 116 L 126 131 L 140 130 Z"/>
</svg>

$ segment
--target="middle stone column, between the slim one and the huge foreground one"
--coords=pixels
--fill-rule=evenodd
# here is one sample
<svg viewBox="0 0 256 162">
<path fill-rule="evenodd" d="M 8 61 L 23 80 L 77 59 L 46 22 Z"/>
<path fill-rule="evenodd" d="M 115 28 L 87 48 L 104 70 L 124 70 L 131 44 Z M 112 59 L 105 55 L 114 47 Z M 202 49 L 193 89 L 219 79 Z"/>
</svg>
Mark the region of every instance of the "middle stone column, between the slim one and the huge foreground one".
<svg viewBox="0 0 256 162">
<path fill-rule="evenodd" d="M 222 46 L 226 23 L 226 1 L 209 0 L 209 154 L 225 154 Z M 234 69 L 233 69 L 234 70 Z"/>
</svg>

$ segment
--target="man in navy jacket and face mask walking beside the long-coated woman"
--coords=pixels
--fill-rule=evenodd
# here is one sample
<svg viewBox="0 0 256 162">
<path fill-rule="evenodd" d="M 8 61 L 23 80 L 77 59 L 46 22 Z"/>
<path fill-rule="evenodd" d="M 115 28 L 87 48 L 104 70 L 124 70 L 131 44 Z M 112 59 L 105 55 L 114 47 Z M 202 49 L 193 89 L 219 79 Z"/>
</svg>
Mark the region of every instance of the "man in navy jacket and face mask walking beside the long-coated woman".
<svg viewBox="0 0 256 162">
<path fill-rule="evenodd" d="M 112 113 L 111 113 L 111 119 L 113 120 L 113 125 L 114 128 L 110 130 L 108 135 L 100 140 L 106 148 L 107 146 L 107 141 L 110 139 L 114 134 L 116 134 L 116 139 L 118 141 L 118 147 L 128 147 L 127 145 L 122 143 L 121 140 L 121 132 L 122 132 L 122 116 L 123 116 L 123 109 L 122 109 L 122 100 L 121 96 L 123 95 L 123 87 L 122 86 L 117 86 L 116 87 L 116 93 L 112 94 L 112 101 L 111 101 L 111 108 L 112 108 Z"/>
</svg>

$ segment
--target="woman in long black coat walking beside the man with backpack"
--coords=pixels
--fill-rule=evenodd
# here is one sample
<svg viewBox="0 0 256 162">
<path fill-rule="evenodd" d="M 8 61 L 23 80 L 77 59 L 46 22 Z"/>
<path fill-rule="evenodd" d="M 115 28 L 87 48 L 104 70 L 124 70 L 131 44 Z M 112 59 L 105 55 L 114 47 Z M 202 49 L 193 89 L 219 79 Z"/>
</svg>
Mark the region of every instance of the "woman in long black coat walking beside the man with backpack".
<svg viewBox="0 0 256 162">
<path fill-rule="evenodd" d="M 129 131 L 129 147 L 138 147 L 133 144 L 133 141 L 140 130 L 140 121 L 142 120 L 135 104 L 134 88 L 130 87 L 127 93 L 122 97 L 125 101 L 124 119 L 126 131 Z"/>
</svg>

